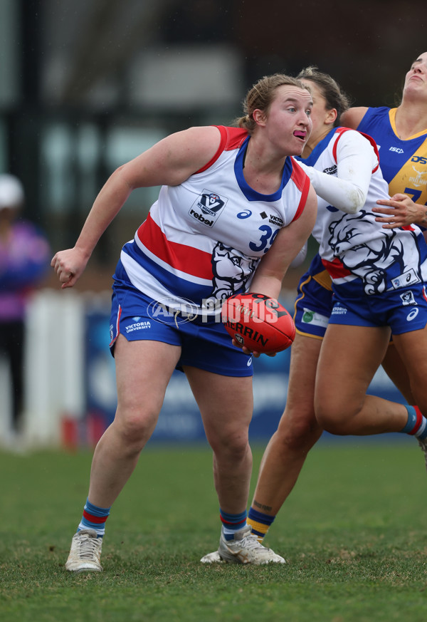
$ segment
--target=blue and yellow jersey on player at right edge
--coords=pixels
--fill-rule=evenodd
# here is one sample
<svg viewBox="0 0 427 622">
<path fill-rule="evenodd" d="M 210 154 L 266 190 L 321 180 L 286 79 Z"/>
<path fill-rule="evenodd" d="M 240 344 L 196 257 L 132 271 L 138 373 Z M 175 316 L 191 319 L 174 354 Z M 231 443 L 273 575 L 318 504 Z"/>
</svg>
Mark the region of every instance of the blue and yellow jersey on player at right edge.
<svg viewBox="0 0 427 622">
<path fill-rule="evenodd" d="M 397 108 L 368 108 L 357 128 L 374 138 L 389 194 L 402 192 L 417 203 L 427 204 L 427 130 L 399 138 Z"/>
</svg>

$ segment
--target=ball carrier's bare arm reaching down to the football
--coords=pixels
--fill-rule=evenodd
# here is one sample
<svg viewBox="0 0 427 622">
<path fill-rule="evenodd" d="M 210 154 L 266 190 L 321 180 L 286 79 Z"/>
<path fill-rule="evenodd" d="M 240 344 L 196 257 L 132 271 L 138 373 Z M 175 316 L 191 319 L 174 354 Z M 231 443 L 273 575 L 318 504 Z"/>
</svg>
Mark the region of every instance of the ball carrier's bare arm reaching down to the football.
<svg viewBox="0 0 427 622">
<path fill-rule="evenodd" d="M 255 270 L 251 288 L 257 294 L 265 294 L 278 299 L 283 278 L 292 260 L 304 246 L 315 226 L 317 216 L 317 197 L 310 185 L 302 214 L 287 227 L 280 229 L 271 248 L 261 259 Z"/>
</svg>

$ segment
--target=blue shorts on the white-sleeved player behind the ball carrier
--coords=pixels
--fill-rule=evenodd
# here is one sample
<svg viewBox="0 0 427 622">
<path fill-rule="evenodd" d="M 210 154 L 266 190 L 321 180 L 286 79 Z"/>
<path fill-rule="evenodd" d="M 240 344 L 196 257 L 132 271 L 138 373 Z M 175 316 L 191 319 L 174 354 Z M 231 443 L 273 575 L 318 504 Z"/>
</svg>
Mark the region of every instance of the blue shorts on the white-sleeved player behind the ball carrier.
<svg viewBox="0 0 427 622">
<path fill-rule="evenodd" d="M 362 284 L 351 281 L 334 287 L 331 324 L 390 326 L 394 335 L 418 331 L 427 324 L 426 285 L 392 289 L 367 296 Z"/>
</svg>

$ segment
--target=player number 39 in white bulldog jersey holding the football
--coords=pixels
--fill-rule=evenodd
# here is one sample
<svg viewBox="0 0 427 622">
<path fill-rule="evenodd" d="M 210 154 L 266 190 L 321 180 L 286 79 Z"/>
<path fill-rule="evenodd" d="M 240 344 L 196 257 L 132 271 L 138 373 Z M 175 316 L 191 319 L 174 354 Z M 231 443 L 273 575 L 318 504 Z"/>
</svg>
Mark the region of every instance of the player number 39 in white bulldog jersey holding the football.
<svg viewBox="0 0 427 622">
<path fill-rule="evenodd" d="M 110 331 L 117 411 L 95 449 L 68 571 L 102 570 L 110 507 L 152 435 L 176 367 L 189 380 L 214 454 L 221 556 L 234 564 L 285 561 L 260 545 L 246 524 L 251 353 L 233 346 L 215 306 L 249 286 L 277 299 L 310 235 L 317 199 L 290 156 L 302 152 L 311 110 L 310 91 L 296 78 L 265 76 L 249 90 L 238 128 L 189 128 L 113 172 L 75 247 L 53 258 L 63 287 L 73 286 L 130 192 L 161 187 L 115 271 Z M 166 313 L 159 312 L 162 306 Z M 196 508 L 197 499 L 189 521 Z"/>
</svg>

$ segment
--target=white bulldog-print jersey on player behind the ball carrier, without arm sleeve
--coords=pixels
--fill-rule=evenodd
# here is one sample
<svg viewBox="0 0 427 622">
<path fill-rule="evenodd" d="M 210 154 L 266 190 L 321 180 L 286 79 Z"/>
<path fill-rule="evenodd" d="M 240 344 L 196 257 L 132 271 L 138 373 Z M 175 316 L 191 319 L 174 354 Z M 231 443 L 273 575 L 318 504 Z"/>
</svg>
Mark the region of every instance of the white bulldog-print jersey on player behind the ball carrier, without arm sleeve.
<svg viewBox="0 0 427 622">
<path fill-rule="evenodd" d="M 360 138 L 355 130 L 335 128 L 304 162 L 336 177 L 338 141 L 346 141 L 348 145 L 353 142 L 357 149 Z M 407 287 L 427 276 L 427 247 L 421 229 L 416 225 L 383 229 L 381 222 L 375 221 L 376 214 L 371 208 L 376 206 L 377 199 L 389 198 L 388 184 L 375 160 L 364 207 L 357 214 L 346 214 L 317 197 L 317 221 L 313 229 L 320 244 L 322 264 L 334 286 L 359 278 L 364 294 Z"/>
</svg>

